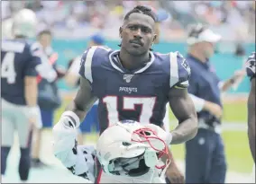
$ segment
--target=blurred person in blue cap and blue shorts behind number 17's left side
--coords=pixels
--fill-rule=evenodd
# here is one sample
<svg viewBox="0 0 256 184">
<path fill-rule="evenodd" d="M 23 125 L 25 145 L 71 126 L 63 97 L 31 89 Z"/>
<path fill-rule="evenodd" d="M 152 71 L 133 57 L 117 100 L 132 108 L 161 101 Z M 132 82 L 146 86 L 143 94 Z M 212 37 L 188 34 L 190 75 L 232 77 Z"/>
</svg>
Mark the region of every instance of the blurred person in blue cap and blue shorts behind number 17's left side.
<svg viewBox="0 0 256 184">
<path fill-rule="evenodd" d="M 102 46 L 105 44 L 105 38 L 102 34 L 96 33 L 91 36 L 87 48 L 92 46 Z M 70 87 L 79 86 L 79 68 L 80 68 L 81 56 L 73 58 L 69 61 L 69 70 L 65 75 L 65 81 Z M 91 110 L 88 111 L 86 118 L 79 127 L 78 132 L 78 145 L 83 145 L 87 133 L 99 132 L 98 116 L 97 116 L 98 101 L 95 102 Z M 98 134 L 97 134 L 98 135 Z"/>
</svg>

